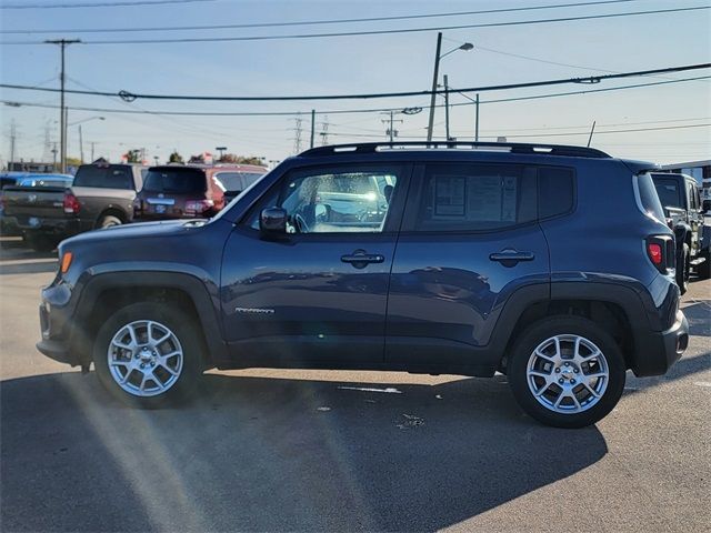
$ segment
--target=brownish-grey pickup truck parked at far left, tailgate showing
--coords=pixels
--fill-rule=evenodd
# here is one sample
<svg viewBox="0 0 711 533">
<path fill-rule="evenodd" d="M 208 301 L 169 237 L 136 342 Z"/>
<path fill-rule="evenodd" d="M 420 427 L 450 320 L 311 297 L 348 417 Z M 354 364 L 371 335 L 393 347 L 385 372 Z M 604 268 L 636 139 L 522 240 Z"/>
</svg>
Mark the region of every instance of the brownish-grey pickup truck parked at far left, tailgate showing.
<svg viewBox="0 0 711 533">
<path fill-rule="evenodd" d="M 133 220 L 133 200 L 146 167 L 82 164 L 70 188 L 7 187 L 4 214 L 17 220 L 28 244 L 51 250 L 68 237 Z"/>
</svg>

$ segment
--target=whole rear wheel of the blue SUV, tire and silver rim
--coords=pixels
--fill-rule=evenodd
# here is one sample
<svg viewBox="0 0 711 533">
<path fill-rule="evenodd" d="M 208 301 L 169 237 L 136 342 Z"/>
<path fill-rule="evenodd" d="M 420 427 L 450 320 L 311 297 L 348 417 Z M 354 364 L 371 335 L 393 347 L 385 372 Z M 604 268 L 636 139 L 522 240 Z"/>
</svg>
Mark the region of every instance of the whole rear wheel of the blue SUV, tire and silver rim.
<svg viewBox="0 0 711 533">
<path fill-rule="evenodd" d="M 594 424 L 617 405 L 625 365 L 610 334 L 580 316 L 550 316 L 517 340 L 508 365 L 513 395 L 539 422 Z"/>
</svg>

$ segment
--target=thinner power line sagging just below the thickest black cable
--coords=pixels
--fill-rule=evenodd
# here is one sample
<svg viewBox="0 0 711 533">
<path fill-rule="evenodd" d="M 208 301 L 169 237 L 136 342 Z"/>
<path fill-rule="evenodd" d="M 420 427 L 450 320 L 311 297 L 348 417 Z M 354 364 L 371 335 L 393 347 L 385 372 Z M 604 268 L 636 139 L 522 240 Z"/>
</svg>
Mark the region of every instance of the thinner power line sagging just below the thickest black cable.
<svg viewBox="0 0 711 533">
<path fill-rule="evenodd" d="M 543 98 L 557 98 L 557 97 L 568 97 L 574 94 L 589 94 L 594 92 L 610 92 L 610 91 L 620 91 L 624 89 L 639 89 L 645 87 L 657 87 L 657 86 L 667 86 L 671 83 L 682 83 L 688 81 L 697 81 L 697 80 L 708 80 L 711 79 L 711 76 L 699 76 L 693 78 L 680 78 L 675 80 L 668 81 L 653 81 L 649 83 L 635 83 L 632 86 L 621 86 L 621 87 L 609 87 L 604 89 L 588 89 L 584 91 L 570 91 L 570 92 L 557 92 L 557 93 L 548 93 L 548 94 L 534 94 L 528 97 L 517 97 L 517 98 L 508 98 L 508 99 L 497 99 L 497 100 L 481 100 L 480 104 L 488 103 L 501 103 L 501 102 L 512 102 L 512 101 L 523 101 L 523 100 L 534 100 L 534 99 L 543 99 Z M 0 86 L 2 87 L 2 86 Z M 11 107 L 22 107 L 26 105 L 28 108 L 47 108 L 47 109 L 57 109 L 58 105 L 44 104 L 44 103 L 36 103 L 36 102 L 18 102 L 13 100 L 0 100 L 0 103 L 4 103 L 6 105 Z M 451 107 L 460 107 L 460 105 L 473 105 L 471 102 L 463 103 L 452 103 Z M 437 105 L 438 108 L 443 107 L 443 104 Z M 153 114 L 153 115 L 181 115 L 181 117 L 293 117 L 299 115 L 302 111 L 238 111 L 238 112 L 227 112 L 227 111 L 154 111 L 154 110 L 142 110 L 139 108 L 137 110 L 124 110 L 124 109 L 116 109 L 116 108 L 92 108 L 92 107 L 71 107 L 68 108 L 72 111 L 94 111 L 94 112 L 103 112 L 103 113 L 120 113 L 120 114 Z M 326 111 L 317 111 L 317 114 L 359 114 L 359 113 L 380 113 L 388 112 L 391 110 L 400 110 L 401 108 L 368 108 L 368 109 L 338 109 L 338 110 L 326 110 Z"/>
</svg>

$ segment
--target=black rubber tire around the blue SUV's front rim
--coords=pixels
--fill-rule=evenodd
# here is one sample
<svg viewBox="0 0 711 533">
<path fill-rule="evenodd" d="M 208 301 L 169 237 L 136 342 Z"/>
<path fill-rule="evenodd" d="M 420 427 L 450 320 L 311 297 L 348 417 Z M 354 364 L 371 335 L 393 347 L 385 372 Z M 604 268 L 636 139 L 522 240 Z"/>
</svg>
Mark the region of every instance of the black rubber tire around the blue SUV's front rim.
<svg viewBox="0 0 711 533">
<path fill-rule="evenodd" d="M 153 321 L 159 325 L 166 326 L 174 334 L 180 348 L 182 349 L 182 366 L 178 372 L 177 380 L 164 392 L 150 396 L 137 395 L 136 393 L 122 389 L 109 369 L 109 350 L 114 335 L 117 335 L 127 324 L 141 321 Z M 144 340 L 146 339 L 143 339 L 143 341 Z M 137 351 L 132 353 L 136 353 Z M 203 354 L 203 342 L 201 340 L 200 332 L 197 331 L 194 326 L 193 319 L 182 311 L 171 308 L 169 304 L 143 302 L 134 303 L 118 310 L 99 329 L 93 346 L 93 364 L 99 380 L 113 396 L 131 406 L 154 409 L 168 404 L 176 404 L 194 395 L 204 368 Z M 119 359 L 123 360 L 124 356 Z M 132 358 L 128 355 L 126 359 L 131 361 Z M 142 359 L 138 356 L 134 359 L 138 360 L 136 364 L 139 364 L 142 361 Z M 150 363 L 147 363 L 147 366 L 148 364 Z M 126 366 L 123 366 L 123 369 L 126 369 Z M 150 371 L 151 369 L 148 370 Z M 158 372 L 160 370 L 162 370 L 160 378 L 161 381 L 166 378 L 164 382 L 168 382 L 170 374 L 168 374 L 159 364 L 156 366 L 156 371 Z M 142 371 L 139 369 L 128 371 L 128 373 L 131 372 L 133 372 L 133 375 L 131 376 L 128 386 L 131 386 L 131 383 L 136 380 L 140 380 L 142 375 Z M 157 385 L 157 383 L 153 382 L 153 385 Z"/>
</svg>

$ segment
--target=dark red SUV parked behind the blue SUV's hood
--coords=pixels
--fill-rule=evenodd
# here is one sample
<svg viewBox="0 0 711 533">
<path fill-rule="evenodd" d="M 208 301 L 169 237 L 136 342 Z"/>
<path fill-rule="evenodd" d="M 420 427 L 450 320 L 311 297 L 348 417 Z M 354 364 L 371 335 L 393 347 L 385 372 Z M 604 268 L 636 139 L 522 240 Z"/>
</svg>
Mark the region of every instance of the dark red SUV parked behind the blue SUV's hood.
<svg viewBox="0 0 711 533">
<path fill-rule="evenodd" d="M 214 217 L 266 172 L 253 165 L 151 167 L 133 203 L 136 220 Z"/>
</svg>

